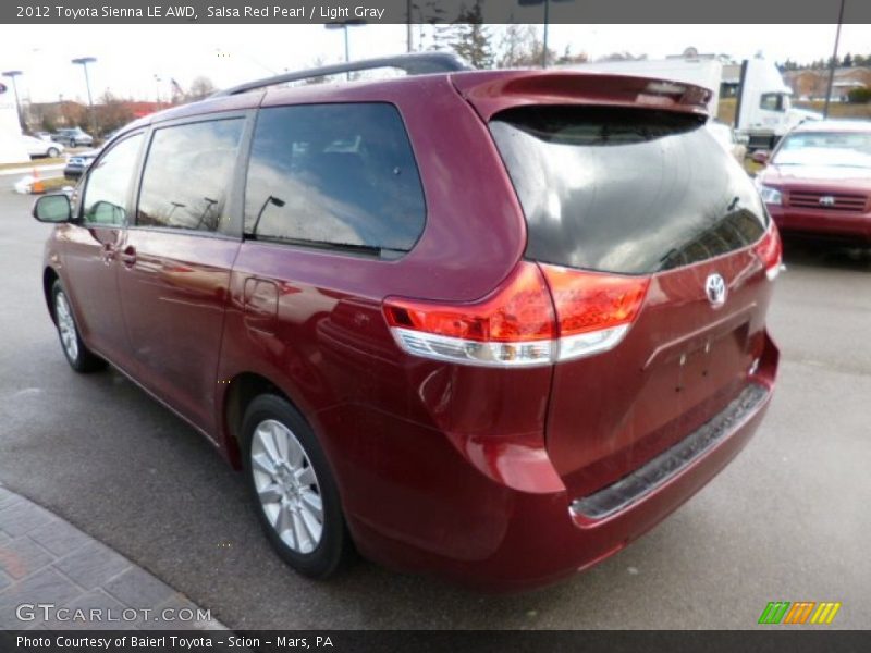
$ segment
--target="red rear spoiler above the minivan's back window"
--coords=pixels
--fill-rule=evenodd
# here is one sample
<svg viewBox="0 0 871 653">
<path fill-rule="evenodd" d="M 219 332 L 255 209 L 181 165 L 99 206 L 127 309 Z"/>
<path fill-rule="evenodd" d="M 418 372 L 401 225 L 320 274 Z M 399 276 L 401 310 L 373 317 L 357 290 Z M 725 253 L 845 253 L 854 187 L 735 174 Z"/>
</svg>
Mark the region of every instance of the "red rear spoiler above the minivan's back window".
<svg viewBox="0 0 871 653">
<path fill-rule="evenodd" d="M 708 115 L 712 91 L 701 86 L 629 75 L 563 71 L 454 73 L 454 87 L 489 121 L 524 104 L 613 104 Z"/>
</svg>

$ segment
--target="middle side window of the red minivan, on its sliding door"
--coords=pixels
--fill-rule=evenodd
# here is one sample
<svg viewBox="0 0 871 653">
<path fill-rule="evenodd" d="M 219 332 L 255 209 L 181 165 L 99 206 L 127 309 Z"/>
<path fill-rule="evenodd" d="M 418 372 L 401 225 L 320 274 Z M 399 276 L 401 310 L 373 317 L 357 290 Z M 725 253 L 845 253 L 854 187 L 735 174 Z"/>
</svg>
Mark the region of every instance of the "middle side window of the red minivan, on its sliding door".
<svg viewBox="0 0 871 653">
<path fill-rule="evenodd" d="M 243 119 L 155 131 L 145 162 L 136 224 L 197 231 L 222 226 L 226 188 L 242 139 Z"/>
</svg>

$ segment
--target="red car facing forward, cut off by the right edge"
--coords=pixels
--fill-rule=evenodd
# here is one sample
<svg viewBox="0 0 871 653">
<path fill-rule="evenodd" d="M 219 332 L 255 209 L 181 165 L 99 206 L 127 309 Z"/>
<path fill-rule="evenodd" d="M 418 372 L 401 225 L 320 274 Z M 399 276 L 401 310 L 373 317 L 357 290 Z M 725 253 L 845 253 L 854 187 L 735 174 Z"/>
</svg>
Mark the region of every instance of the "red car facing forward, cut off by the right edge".
<svg viewBox="0 0 871 653">
<path fill-rule="evenodd" d="M 871 121 L 802 123 L 755 159 L 782 231 L 871 242 Z"/>
</svg>

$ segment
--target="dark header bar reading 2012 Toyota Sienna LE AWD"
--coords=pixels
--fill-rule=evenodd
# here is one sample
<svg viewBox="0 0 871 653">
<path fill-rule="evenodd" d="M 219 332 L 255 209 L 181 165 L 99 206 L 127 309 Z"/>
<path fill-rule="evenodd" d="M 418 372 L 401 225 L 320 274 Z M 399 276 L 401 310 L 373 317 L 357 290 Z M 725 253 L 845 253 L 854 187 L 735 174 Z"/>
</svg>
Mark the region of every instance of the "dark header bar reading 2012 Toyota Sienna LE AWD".
<svg viewBox="0 0 871 653">
<path fill-rule="evenodd" d="M 871 23 L 871 1 L 844 1 L 844 23 Z M 473 4 L 474 0 L 3 0 L 0 23 L 453 23 Z M 544 0 L 481 0 L 481 9 L 483 22 L 490 24 L 542 23 Z M 549 22 L 836 23 L 839 9 L 841 0 L 550 0 Z"/>
</svg>

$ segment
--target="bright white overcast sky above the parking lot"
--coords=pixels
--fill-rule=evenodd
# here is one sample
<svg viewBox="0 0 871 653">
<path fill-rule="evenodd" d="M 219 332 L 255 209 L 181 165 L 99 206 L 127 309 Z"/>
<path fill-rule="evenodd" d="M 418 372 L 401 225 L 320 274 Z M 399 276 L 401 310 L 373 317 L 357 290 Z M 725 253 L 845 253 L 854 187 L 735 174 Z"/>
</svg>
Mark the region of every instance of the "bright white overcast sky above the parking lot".
<svg viewBox="0 0 871 653">
<path fill-rule="evenodd" d="M 499 41 L 500 26 L 493 26 Z M 419 36 L 415 27 L 415 38 Z M 426 35 L 425 35 L 426 36 Z M 699 52 L 746 59 L 805 62 L 827 58 L 834 25 L 551 25 L 550 45 L 592 59 L 616 51 L 650 58 Z M 405 51 L 404 25 L 351 29 L 352 59 Z M 871 53 L 871 25 L 844 25 L 839 52 Z M 185 89 L 198 75 L 223 87 L 257 77 L 344 59 L 342 30 L 322 25 L 10 25 L 0 26 L 0 71 L 22 70 L 22 99 L 86 101 L 81 66 L 70 60 L 96 57 L 89 66 L 97 99 L 106 89 L 121 97 L 154 100 L 170 95 L 169 79 Z M 156 82 L 155 76 L 161 82 Z"/>
</svg>

